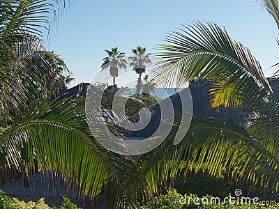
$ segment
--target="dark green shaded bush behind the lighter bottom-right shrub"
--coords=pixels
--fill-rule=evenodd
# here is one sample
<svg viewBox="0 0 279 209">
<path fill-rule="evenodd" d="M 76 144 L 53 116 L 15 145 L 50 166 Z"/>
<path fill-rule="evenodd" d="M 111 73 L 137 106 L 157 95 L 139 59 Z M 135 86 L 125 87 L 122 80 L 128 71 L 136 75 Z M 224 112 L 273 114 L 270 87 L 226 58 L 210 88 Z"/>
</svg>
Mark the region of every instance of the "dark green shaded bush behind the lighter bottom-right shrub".
<svg viewBox="0 0 279 209">
<path fill-rule="evenodd" d="M 181 164 L 183 166 L 184 162 Z M 165 185 L 176 188 L 180 194 L 191 191 L 197 196 L 211 194 L 220 198 L 225 198 L 230 192 L 241 189 L 243 195 L 260 196 L 261 199 L 272 199 L 279 202 L 279 193 L 273 192 L 271 187 L 262 187 L 260 181 L 255 184 L 252 180 L 237 179 L 235 176 L 232 177 L 232 173 L 229 171 L 223 171 L 220 177 L 211 176 L 209 170 L 203 165 L 199 171 L 195 171 L 195 164 L 193 164 L 192 171 L 188 170 L 186 173 L 182 171 L 174 179 L 169 179 Z"/>
</svg>

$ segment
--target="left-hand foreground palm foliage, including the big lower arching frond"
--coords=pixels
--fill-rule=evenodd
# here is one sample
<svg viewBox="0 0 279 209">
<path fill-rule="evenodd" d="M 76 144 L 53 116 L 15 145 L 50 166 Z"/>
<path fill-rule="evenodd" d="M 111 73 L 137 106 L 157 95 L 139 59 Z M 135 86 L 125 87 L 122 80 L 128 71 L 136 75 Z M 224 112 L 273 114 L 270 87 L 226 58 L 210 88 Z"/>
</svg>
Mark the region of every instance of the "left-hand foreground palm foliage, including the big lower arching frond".
<svg viewBox="0 0 279 209">
<path fill-rule="evenodd" d="M 38 88 L 47 91 L 43 81 L 52 78 L 56 63 L 66 68 L 59 56 L 44 50 L 40 36 L 50 28 L 46 23 L 52 22 L 51 15 L 59 17 L 57 12 L 65 5 L 63 0 L 0 3 L 0 175 L 8 180 L 13 173 L 22 173 L 28 185 L 29 173 L 47 169 L 70 180 L 71 188 L 91 199 L 105 185 L 108 208 L 138 208 L 133 185 L 142 172 L 132 160 L 98 144 L 86 123 L 84 98 L 49 103 L 45 94 L 33 96 Z M 102 109 L 110 108 L 107 102 L 113 98 L 105 96 Z M 92 120 L 96 133 L 102 134 L 98 124 L 103 121 L 94 116 Z"/>
</svg>

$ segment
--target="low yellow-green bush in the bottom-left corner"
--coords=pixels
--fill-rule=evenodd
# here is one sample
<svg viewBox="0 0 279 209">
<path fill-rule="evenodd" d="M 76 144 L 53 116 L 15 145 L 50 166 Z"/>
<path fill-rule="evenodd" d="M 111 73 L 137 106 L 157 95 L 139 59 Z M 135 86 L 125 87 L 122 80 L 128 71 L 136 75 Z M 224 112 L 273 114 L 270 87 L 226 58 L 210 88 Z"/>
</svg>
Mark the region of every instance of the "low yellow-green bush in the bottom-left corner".
<svg viewBox="0 0 279 209">
<path fill-rule="evenodd" d="M 19 199 L 6 196 L 3 191 L 0 191 L 0 208 L 1 209 L 52 209 L 45 203 L 45 199 L 41 198 L 37 202 L 29 201 L 28 203 Z M 53 209 L 58 209 L 54 207 Z M 79 209 L 69 199 L 64 198 L 61 209 Z"/>
</svg>

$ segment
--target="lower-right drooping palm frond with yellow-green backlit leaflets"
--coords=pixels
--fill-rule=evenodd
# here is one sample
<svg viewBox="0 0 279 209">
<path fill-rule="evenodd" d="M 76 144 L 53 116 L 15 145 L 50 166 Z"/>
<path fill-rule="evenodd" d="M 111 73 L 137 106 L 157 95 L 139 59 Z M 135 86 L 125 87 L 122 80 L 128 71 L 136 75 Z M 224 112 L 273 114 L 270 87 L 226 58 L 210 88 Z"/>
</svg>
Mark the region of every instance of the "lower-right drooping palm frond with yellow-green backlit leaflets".
<svg viewBox="0 0 279 209">
<path fill-rule="evenodd" d="M 234 121 L 195 116 L 186 137 L 176 146 L 174 137 L 172 132 L 162 145 L 141 158 L 140 166 L 146 172 L 150 196 L 181 172 L 186 175 L 188 171 L 200 169 L 219 177 L 229 170 L 234 179 L 279 189 L 277 155 L 252 139 L 245 128 Z"/>
</svg>

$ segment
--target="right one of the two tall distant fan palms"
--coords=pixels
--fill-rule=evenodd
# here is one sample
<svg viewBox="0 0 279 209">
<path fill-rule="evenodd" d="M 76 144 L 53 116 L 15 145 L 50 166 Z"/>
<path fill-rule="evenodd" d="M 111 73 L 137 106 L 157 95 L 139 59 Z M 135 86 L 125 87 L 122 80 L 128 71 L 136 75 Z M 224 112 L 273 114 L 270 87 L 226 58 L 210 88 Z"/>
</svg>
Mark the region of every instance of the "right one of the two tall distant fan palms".
<svg viewBox="0 0 279 209">
<path fill-rule="evenodd" d="M 140 46 L 131 50 L 135 56 L 129 58 L 131 60 L 130 66 L 133 66 L 133 70 L 135 70 L 135 72 L 140 75 L 139 79 L 141 79 L 142 73 L 144 73 L 146 70 L 146 64 L 152 63 L 149 59 L 151 53 L 146 54 L 146 47 Z"/>
</svg>

